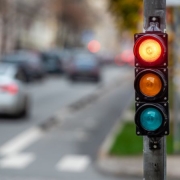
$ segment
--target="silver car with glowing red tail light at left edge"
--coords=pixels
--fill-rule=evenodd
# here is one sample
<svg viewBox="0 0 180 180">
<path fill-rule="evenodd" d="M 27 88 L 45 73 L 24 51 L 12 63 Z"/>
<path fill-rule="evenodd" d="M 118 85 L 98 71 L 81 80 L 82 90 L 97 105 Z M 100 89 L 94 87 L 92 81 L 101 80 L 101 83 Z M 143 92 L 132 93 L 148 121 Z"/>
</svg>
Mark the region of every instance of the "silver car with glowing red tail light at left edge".
<svg viewBox="0 0 180 180">
<path fill-rule="evenodd" d="M 0 114 L 27 116 L 29 95 L 16 66 L 0 66 Z"/>
</svg>

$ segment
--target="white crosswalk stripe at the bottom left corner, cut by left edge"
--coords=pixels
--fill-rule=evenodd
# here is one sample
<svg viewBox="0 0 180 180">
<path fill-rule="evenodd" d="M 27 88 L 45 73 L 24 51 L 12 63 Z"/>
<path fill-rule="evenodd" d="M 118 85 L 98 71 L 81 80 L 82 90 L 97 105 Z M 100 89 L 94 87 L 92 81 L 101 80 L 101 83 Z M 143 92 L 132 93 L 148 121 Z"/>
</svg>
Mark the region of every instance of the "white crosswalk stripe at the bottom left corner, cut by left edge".
<svg viewBox="0 0 180 180">
<path fill-rule="evenodd" d="M 0 168 L 23 169 L 34 160 L 35 156 L 32 153 L 12 154 L 0 160 Z"/>
</svg>

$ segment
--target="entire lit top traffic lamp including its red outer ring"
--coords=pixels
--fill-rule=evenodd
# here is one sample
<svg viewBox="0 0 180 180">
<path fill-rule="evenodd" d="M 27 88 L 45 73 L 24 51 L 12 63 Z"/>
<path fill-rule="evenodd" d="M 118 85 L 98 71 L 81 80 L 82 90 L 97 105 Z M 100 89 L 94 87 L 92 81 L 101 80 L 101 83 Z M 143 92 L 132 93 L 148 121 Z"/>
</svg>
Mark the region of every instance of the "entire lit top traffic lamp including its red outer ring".
<svg viewBox="0 0 180 180">
<path fill-rule="evenodd" d="M 157 35 L 144 35 L 137 39 L 134 45 L 134 55 L 138 63 L 145 66 L 159 65 L 163 61 L 166 47 Z"/>
</svg>

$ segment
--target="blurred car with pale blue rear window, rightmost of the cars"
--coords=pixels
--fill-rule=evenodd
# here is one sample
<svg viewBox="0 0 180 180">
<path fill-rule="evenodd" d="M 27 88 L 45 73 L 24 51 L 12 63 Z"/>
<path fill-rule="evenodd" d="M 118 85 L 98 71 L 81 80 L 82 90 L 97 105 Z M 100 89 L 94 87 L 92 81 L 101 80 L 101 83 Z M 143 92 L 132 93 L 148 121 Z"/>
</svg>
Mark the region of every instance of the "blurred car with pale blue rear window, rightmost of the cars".
<svg viewBox="0 0 180 180">
<path fill-rule="evenodd" d="M 67 67 L 67 75 L 70 79 L 93 78 L 95 81 L 101 79 L 101 71 L 98 59 L 91 53 L 76 53 Z"/>
</svg>

